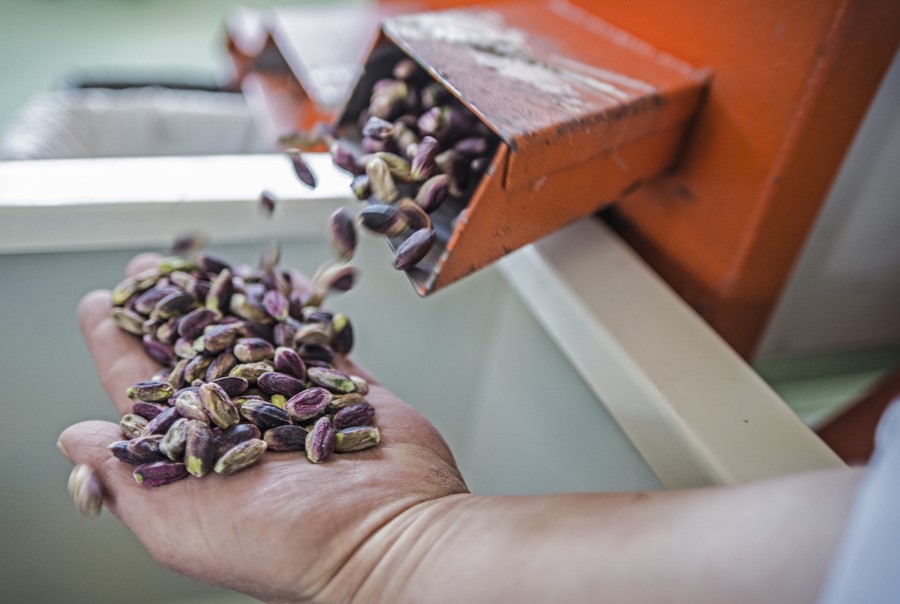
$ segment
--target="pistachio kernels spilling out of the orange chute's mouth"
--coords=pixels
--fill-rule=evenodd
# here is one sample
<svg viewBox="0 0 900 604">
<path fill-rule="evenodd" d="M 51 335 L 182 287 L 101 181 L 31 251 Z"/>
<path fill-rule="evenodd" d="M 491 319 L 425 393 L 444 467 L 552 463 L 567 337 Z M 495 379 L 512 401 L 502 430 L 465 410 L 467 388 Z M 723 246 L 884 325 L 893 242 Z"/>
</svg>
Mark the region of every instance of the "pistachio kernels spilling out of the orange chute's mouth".
<svg viewBox="0 0 900 604">
<path fill-rule="evenodd" d="M 499 138 L 442 84 L 406 58 L 394 65 L 391 77 L 373 84 L 369 105 L 357 121 L 346 138 L 319 125 L 308 133 L 282 137 L 281 143 L 327 145 L 334 164 L 353 175 L 353 194 L 367 202 L 355 216 L 343 209 L 332 217 L 331 236 L 339 255 L 352 256 L 359 224 L 397 238 L 394 267 L 412 270 L 434 246 L 437 222 L 446 221 L 455 228 L 490 165 Z M 299 149 L 289 149 L 288 155 L 297 177 L 314 186 L 314 179 L 306 176 L 308 168 L 298 163 Z"/>
</svg>

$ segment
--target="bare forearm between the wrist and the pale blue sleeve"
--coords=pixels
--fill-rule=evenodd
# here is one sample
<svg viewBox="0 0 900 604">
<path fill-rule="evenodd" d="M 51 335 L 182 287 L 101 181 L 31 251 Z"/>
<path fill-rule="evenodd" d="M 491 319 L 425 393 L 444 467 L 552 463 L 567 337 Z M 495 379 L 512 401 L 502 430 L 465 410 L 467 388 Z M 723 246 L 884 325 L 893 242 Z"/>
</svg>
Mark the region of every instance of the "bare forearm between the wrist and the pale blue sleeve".
<svg viewBox="0 0 900 604">
<path fill-rule="evenodd" d="M 384 602 L 808 602 L 859 472 L 647 494 L 461 495 L 401 516 Z"/>
</svg>

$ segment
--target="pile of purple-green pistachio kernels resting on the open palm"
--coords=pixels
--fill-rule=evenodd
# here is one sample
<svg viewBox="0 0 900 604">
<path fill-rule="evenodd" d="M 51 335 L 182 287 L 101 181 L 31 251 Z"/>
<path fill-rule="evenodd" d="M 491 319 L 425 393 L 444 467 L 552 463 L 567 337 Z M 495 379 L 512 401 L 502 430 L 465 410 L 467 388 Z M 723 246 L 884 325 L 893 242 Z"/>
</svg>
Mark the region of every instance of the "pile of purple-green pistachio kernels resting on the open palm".
<svg viewBox="0 0 900 604">
<path fill-rule="evenodd" d="M 257 268 L 168 257 L 113 290 L 113 320 L 162 365 L 128 388 L 124 438 L 108 447 L 138 483 L 231 474 L 267 450 L 321 463 L 378 444 L 368 384 L 333 364 L 353 346 L 350 321 L 322 308 L 356 269 L 324 265 L 301 295 L 278 260 L 277 246 Z"/>
</svg>

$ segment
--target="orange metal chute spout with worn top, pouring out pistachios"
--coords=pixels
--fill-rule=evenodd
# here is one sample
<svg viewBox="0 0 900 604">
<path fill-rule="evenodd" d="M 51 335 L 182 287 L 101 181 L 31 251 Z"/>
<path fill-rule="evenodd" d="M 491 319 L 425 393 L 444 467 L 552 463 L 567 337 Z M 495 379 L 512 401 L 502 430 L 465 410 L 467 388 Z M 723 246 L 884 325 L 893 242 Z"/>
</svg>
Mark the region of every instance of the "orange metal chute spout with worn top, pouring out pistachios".
<svg viewBox="0 0 900 604">
<path fill-rule="evenodd" d="M 468 202 L 434 217 L 438 245 L 410 278 L 434 292 L 671 165 L 709 72 L 553 3 L 393 17 L 339 119 L 352 130 L 373 83 L 410 56 L 502 140 Z M 399 241 L 393 241 L 397 245 Z"/>
</svg>

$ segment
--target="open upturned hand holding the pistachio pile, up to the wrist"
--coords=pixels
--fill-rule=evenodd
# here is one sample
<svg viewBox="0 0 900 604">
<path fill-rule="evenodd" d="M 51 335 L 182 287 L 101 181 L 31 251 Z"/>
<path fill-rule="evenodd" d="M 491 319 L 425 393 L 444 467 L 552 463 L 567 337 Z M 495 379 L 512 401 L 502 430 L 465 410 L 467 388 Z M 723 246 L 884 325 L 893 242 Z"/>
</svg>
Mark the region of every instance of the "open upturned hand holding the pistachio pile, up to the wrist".
<svg viewBox="0 0 900 604">
<path fill-rule="evenodd" d="M 139 256 L 127 272 L 155 261 Z M 126 388 L 159 366 L 118 328 L 110 309 L 108 291 L 92 292 L 78 318 L 100 380 L 124 414 L 131 408 Z M 348 359 L 336 365 L 367 375 Z M 323 464 L 309 463 L 303 452 L 267 452 L 233 475 L 147 488 L 106 450 L 122 438 L 116 424 L 74 425 L 59 445 L 70 461 L 99 473 L 106 507 L 171 569 L 266 601 L 350 601 L 398 525 L 408 526 L 421 504 L 466 492 L 453 456 L 422 415 L 376 384 L 366 398 L 381 443 Z"/>
</svg>

